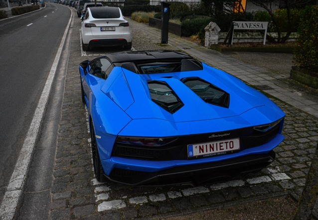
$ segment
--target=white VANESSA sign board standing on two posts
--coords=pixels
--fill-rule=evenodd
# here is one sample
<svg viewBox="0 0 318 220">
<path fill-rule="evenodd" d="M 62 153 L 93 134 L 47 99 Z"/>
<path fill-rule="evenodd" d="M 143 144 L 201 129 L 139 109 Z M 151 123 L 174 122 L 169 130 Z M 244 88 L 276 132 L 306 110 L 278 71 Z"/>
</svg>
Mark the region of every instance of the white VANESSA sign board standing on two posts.
<svg viewBox="0 0 318 220">
<path fill-rule="evenodd" d="M 233 43 L 233 35 L 234 30 L 265 30 L 263 44 L 266 42 L 266 34 L 267 34 L 267 25 L 268 22 L 260 22 L 260 21 L 233 21 L 232 28 L 232 41 Z"/>
</svg>

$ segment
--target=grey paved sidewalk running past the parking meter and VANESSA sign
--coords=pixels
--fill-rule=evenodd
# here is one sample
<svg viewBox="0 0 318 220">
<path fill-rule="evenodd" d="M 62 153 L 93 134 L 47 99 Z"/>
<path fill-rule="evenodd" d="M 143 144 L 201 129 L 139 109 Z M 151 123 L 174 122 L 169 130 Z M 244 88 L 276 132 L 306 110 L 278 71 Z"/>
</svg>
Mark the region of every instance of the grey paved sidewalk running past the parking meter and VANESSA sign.
<svg viewBox="0 0 318 220">
<path fill-rule="evenodd" d="M 157 44 L 160 42 L 160 30 L 133 20 L 130 22 L 133 22 L 133 36 L 141 37 L 146 32 L 149 46 L 145 45 L 145 49 L 154 49 L 154 41 Z M 133 39 L 133 47 L 134 43 Z M 170 33 L 166 49 L 182 50 L 204 63 L 230 73 L 256 89 L 318 117 L 317 94 L 311 95 L 306 92 L 305 87 L 296 88 L 289 81 L 292 54 L 220 53 Z"/>
</svg>

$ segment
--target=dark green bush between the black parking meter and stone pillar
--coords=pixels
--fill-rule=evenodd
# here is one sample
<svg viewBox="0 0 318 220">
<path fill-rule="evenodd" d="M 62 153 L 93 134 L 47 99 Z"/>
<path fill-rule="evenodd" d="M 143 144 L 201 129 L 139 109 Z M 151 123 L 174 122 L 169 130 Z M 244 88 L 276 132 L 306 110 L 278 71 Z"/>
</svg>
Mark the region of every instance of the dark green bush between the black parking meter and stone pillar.
<svg viewBox="0 0 318 220">
<path fill-rule="evenodd" d="M 189 37 L 204 30 L 204 27 L 211 22 L 211 18 L 196 18 L 182 22 L 182 36 Z"/>
</svg>

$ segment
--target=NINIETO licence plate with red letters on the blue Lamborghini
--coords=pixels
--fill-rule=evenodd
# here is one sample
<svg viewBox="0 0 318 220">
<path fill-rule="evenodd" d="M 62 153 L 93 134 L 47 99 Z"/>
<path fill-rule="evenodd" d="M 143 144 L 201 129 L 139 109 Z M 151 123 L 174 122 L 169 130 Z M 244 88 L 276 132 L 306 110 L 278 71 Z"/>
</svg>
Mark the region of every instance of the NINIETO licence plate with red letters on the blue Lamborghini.
<svg viewBox="0 0 318 220">
<path fill-rule="evenodd" d="M 188 145 L 188 157 L 214 156 L 225 154 L 227 151 L 239 150 L 240 139 L 219 140 L 200 144 Z"/>
</svg>

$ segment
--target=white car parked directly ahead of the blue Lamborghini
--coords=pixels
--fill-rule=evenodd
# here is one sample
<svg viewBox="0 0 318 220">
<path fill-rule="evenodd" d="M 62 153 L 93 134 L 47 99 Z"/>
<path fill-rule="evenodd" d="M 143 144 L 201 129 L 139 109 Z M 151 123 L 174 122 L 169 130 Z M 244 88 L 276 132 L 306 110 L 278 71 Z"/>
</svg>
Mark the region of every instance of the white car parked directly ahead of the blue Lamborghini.
<svg viewBox="0 0 318 220">
<path fill-rule="evenodd" d="M 132 31 L 119 7 L 89 7 L 82 19 L 82 47 L 132 48 Z"/>
</svg>

